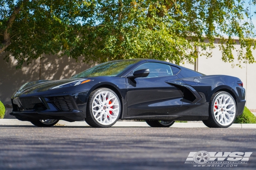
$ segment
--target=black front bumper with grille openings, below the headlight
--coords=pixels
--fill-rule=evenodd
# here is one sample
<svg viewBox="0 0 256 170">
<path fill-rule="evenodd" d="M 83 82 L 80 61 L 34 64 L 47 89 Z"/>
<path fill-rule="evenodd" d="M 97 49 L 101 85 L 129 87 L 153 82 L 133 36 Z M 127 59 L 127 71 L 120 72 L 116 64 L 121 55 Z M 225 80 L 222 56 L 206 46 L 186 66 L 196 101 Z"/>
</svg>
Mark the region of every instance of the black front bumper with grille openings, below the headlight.
<svg viewBox="0 0 256 170">
<path fill-rule="evenodd" d="M 13 112 L 10 115 L 19 120 L 65 120 L 86 117 L 86 102 L 77 95 L 15 98 L 12 99 L 12 105 Z M 75 121 L 79 121 L 79 119 L 75 119 Z"/>
</svg>

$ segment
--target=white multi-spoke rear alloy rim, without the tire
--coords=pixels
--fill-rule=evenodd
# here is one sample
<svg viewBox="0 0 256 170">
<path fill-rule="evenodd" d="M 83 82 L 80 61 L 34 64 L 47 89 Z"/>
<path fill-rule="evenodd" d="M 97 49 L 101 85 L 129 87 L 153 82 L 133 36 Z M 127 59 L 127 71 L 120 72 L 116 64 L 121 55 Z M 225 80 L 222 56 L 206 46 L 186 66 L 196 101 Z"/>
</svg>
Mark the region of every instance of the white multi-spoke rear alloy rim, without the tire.
<svg viewBox="0 0 256 170">
<path fill-rule="evenodd" d="M 214 101 L 213 113 L 215 120 L 227 126 L 233 123 L 236 118 L 236 104 L 234 99 L 228 94 L 221 94 Z"/>
</svg>

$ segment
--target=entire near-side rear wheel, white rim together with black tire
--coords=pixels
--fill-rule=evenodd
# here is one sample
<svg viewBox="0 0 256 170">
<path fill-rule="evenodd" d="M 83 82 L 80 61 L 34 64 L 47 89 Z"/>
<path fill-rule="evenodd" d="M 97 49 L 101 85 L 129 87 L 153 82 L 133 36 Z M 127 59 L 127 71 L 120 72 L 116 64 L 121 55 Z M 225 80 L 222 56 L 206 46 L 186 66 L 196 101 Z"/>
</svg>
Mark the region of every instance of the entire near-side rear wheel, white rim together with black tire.
<svg viewBox="0 0 256 170">
<path fill-rule="evenodd" d="M 226 91 L 213 94 L 209 104 L 209 118 L 203 123 L 209 128 L 228 128 L 236 119 L 237 105 Z"/>
</svg>

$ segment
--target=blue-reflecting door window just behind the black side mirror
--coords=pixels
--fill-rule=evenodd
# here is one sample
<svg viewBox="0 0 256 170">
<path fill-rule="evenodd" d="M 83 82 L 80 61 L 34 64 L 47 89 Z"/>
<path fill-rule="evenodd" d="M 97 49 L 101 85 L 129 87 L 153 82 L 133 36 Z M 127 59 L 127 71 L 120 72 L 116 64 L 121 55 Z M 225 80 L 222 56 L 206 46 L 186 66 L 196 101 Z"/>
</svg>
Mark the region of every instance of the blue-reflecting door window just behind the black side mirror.
<svg viewBox="0 0 256 170">
<path fill-rule="evenodd" d="M 165 76 L 173 75 L 172 69 L 168 64 L 153 63 L 153 62 L 143 63 L 142 65 L 134 69 L 133 72 L 141 69 L 150 70 L 150 73 L 146 78 L 165 77 Z"/>
</svg>

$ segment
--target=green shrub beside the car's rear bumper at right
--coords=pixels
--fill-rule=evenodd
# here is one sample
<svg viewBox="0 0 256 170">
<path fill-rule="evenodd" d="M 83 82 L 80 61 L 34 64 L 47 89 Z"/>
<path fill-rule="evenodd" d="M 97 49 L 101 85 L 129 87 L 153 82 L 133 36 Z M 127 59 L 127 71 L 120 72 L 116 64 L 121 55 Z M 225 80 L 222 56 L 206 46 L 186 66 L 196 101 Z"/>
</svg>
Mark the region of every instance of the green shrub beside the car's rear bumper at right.
<svg viewBox="0 0 256 170">
<path fill-rule="evenodd" d="M 234 123 L 256 123 L 256 117 L 247 107 L 244 107 L 243 114 L 238 116 Z"/>
</svg>

